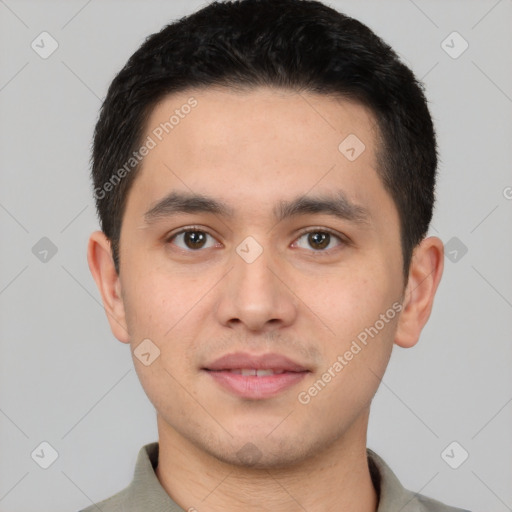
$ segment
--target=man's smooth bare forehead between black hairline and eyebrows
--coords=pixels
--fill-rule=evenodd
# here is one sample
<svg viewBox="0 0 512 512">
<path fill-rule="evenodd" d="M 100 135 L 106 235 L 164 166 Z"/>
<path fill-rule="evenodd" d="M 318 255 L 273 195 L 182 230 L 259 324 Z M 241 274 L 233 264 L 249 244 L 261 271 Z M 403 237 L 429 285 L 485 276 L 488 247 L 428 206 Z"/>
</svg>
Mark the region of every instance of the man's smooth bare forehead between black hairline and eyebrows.
<svg viewBox="0 0 512 512">
<path fill-rule="evenodd" d="M 130 195 L 142 208 L 177 188 L 257 209 L 336 188 L 368 203 L 384 193 L 377 137 L 374 116 L 353 101 L 270 88 L 191 89 L 152 110 L 144 135 L 152 149 Z"/>
</svg>

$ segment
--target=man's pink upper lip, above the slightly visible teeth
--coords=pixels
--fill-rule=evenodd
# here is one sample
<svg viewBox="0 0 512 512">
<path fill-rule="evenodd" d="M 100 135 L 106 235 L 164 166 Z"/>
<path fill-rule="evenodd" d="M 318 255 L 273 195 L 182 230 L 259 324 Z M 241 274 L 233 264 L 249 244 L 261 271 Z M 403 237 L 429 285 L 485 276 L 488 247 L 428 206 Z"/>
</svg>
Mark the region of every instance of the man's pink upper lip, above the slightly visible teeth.
<svg viewBox="0 0 512 512">
<path fill-rule="evenodd" d="M 204 367 L 205 370 L 283 370 L 288 372 L 309 371 L 304 366 L 286 356 L 275 353 L 253 355 L 246 352 L 233 352 L 219 357 Z"/>
</svg>

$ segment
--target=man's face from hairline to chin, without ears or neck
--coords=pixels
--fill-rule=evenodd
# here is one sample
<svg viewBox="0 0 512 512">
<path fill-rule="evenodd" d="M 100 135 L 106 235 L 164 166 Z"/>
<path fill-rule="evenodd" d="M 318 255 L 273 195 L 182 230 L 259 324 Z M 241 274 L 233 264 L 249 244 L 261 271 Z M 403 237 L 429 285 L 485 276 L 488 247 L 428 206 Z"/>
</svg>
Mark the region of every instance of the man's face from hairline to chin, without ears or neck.
<svg viewBox="0 0 512 512">
<path fill-rule="evenodd" d="M 160 434 L 267 467 L 364 437 L 404 291 L 373 116 L 205 89 L 169 96 L 146 128 L 112 328 L 135 354 L 150 340 L 134 364 Z"/>
</svg>

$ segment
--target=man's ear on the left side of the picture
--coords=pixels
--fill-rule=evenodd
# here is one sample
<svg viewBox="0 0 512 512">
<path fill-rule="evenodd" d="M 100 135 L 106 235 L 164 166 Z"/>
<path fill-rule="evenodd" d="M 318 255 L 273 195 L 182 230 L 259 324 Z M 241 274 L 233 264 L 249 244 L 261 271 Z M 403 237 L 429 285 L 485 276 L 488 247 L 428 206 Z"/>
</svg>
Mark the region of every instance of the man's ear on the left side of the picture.
<svg viewBox="0 0 512 512">
<path fill-rule="evenodd" d="M 101 293 L 112 333 L 119 341 L 129 343 L 130 337 L 121 296 L 121 281 L 112 258 L 110 240 L 103 231 L 95 231 L 91 234 L 87 248 L 87 261 Z"/>
</svg>

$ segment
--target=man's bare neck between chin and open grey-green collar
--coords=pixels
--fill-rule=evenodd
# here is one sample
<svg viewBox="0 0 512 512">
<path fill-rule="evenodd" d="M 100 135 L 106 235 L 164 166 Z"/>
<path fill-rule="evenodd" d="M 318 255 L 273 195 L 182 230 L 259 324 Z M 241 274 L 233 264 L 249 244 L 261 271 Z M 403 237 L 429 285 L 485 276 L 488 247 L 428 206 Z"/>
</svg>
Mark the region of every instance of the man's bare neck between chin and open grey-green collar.
<svg viewBox="0 0 512 512">
<path fill-rule="evenodd" d="M 220 461 L 158 416 L 156 475 L 169 496 L 190 512 L 375 512 L 378 496 L 366 456 L 367 423 L 368 413 L 321 453 L 291 467 L 256 469 Z"/>
</svg>

